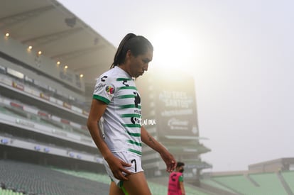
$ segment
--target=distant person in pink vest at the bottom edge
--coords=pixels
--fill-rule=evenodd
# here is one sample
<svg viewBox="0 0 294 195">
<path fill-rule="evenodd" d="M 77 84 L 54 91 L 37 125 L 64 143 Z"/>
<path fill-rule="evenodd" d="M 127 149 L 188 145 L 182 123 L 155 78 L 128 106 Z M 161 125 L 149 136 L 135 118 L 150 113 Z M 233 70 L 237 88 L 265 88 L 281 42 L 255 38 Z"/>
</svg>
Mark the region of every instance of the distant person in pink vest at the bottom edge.
<svg viewBox="0 0 294 195">
<path fill-rule="evenodd" d="M 178 162 L 175 167 L 175 172 L 170 173 L 170 179 L 168 181 L 168 195 L 185 195 L 184 188 L 184 172 L 185 164 Z"/>
</svg>

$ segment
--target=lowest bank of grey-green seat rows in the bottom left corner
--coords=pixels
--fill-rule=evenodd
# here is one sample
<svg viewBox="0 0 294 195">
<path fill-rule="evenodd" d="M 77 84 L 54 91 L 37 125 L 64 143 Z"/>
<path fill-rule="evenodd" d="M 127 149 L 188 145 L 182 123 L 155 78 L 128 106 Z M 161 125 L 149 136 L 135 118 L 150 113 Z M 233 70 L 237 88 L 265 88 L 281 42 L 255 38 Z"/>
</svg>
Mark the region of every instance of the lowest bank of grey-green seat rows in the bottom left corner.
<svg viewBox="0 0 294 195">
<path fill-rule="evenodd" d="M 23 194 L 103 195 L 109 191 L 108 184 L 73 177 L 48 167 L 11 160 L 0 160 L 0 183 L 2 189 Z"/>
</svg>

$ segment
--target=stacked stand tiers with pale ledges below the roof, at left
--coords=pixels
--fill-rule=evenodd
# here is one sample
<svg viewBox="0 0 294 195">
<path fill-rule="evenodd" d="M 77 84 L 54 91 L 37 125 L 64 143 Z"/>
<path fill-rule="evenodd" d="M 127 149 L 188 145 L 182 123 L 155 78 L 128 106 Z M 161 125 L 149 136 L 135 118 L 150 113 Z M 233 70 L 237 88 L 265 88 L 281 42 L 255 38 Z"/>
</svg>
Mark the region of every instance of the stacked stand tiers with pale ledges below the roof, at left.
<svg viewBox="0 0 294 195">
<path fill-rule="evenodd" d="M 65 87 L 53 81 L 53 86 L 44 84 L 49 77 L 42 82 L 34 78 L 36 73 L 28 77 L 19 71 L 22 66 L 11 68 L 13 60 L 6 55 L 0 61 L 0 137 L 2 148 L 9 148 L 1 150 L 1 156 L 43 164 L 56 156 L 101 164 L 85 126 L 87 106 L 77 104 L 83 102 L 79 95 L 61 93 Z M 18 155 L 20 150 L 26 150 L 26 156 Z"/>
</svg>

